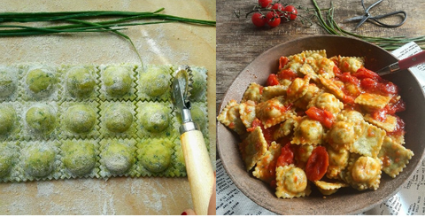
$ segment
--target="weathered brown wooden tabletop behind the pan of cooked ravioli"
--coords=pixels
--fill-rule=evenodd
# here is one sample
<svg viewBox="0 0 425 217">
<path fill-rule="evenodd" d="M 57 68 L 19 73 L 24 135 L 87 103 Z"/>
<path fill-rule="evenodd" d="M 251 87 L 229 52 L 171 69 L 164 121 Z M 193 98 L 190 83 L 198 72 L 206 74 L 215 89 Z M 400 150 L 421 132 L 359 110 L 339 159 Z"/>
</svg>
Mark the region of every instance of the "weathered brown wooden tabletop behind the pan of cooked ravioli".
<svg viewBox="0 0 425 217">
<path fill-rule="evenodd" d="M 330 6 L 330 0 L 317 1 L 321 9 Z M 362 15 L 364 10 L 360 0 L 332 0 L 336 7 L 334 18 L 345 30 L 359 35 L 368 36 L 395 36 L 406 35 L 408 37 L 425 35 L 425 0 L 394 1 L 384 0 L 375 6 L 370 13 L 379 15 L 388 12 L 403 10 L 407 12 L 405 24 L 397 28 L 377 27 L 372 23 L 365 23 L 357 30 L 357 22 L 343 23 L 344 19 Z M 217 0 L 217 115 L 220 113 L 221 100 L 224 97 L 231 82 L 236 78 L 245 66 L 259 56 L 262 52 L 277 44 L 309 35 L 327 35 L 317 25 L 317 19 L 313 19 L 313 26 L 303 25 L 299 19 L 283 23 L 278 27 L 255 27 L 251 23 L 251 16 L 245 19 L 245 13 L 250 12 L 256 0 Z M 282 3 L 290 3 L 282 1 Z M 366 6 L 375 3 L 375 0 L 365 1 Z M 297 5 L 304 8 L 312 8 L 311 0 L 298 0 Z M 236 17 L 240 12 L 240 18 Z M 298 10 L 298 14 L 305 15 L 304 10 Z M 390 20 L 389 20 L 390 21 Z M 394 18 L 392 21 L 398 21 Z M 219 155 L 217 155 L 219 156 Z M 220 158 L 220 157 L 218 157 Z"/>
</svg>

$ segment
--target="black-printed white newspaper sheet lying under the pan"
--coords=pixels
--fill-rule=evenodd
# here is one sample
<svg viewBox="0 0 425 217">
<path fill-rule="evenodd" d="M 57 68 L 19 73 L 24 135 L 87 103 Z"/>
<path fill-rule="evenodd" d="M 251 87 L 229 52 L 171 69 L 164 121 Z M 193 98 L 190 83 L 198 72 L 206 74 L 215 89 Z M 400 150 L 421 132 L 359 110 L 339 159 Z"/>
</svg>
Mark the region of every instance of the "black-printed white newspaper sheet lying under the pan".
<svg viewBox="0 0 425 217">
<path fill-rule="evenodd" d="M 407 43 L 392 54 L 398 59 L 403 59 L 421 51 L 416 43 Z M 425 64 L 410 68 L 412 73 L 425 90 Z M 235 183 L 228 177 L 221 160 L 217 160 L 217 214 L 219 215 L 274 215 L 267 209 L 257 205 L 243 192 L 237 189 Z M 381 205 L 360 214 L 380 215 L 413 215 L 425 214 L 425 161 L 416 170 L 412 178 L 393 197 Z"/>
</svg>

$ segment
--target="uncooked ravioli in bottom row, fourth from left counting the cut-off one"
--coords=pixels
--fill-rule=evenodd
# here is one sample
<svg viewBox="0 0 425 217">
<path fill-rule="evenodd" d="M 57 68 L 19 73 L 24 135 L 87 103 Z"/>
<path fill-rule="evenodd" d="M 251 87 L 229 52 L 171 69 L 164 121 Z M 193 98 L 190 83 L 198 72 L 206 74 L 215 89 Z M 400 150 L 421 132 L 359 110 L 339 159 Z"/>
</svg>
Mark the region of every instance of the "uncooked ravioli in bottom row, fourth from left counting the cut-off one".
<svg viewBox="0 0 425 217">
<path fill-rule="evenodd" d="M 136 165 L 135 139 L 103 139 L 100 141 L 100 177 L 108 179 L 115 176 L 135 177 Z"/>
</svg>

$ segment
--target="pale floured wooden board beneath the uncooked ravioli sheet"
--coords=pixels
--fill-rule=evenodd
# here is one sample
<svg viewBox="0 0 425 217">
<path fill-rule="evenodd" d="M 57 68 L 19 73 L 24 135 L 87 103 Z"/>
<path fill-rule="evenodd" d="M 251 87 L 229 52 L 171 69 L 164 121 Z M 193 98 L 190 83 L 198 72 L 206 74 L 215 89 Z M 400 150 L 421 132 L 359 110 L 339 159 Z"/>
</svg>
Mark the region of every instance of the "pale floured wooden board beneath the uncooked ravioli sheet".
<svg viewBox="0 0 425 217">
<path fill-rule="evenodd" d="M 215 19 L 215 1 L 0 1 L 1 12 L 134 11 Z M 168 23 L 128 27 L 143 64 L 208 69 L 211 159 L 215 167 L 215 27 Z M 130 43 L 111 33 L 0 38 L 2 64 L 139 63 Z M 0 214 L 180 214 L 192 206 L 187 178 L 112 178 L 0 183 Z"/>
</svg>

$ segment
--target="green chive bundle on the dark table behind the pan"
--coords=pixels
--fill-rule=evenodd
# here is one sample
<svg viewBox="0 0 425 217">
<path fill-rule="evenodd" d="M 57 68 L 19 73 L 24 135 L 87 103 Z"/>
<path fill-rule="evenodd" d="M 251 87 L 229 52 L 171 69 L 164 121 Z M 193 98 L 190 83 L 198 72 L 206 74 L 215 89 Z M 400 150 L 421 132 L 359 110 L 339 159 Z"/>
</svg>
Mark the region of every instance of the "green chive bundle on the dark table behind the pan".
<svg viewBox="0 0 425 217">
<path fill-rule="evenodd" d="M 323 16 L 321 8 L 315 0 L 312 0 L 314 5 L 314 15 L 318 19 L 318 25 L 322 27 L 330 35 L 344 35 L 352 36 L 362 39 L 368 43 L 375 43 L 385 50 L 396 50 L 405 43 L 414 42 L 417 43 L 421 49 L 425 49 L 425 35 L 419 37 L 408 38 L 406 36 L 393 36 L 393 37 L 374 37 L 354 34 L 346 31 L 339 27 L 334 19 L 335 7 L 331 2 L 330 8 L 326 12 L 326 16 Z"/>
</svg>

